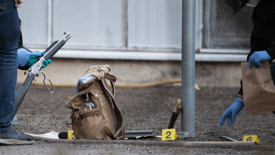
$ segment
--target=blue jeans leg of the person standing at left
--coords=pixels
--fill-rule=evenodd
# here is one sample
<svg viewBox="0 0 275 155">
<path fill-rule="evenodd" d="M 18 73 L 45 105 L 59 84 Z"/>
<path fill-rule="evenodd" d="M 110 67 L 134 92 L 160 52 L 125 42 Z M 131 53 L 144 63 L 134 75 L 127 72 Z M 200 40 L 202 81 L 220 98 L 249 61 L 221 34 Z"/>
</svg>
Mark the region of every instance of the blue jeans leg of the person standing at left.
<svg viewBox="0 0 275 155">
<path fill-rule="evenodd" d="M 14 0 L 0 0 L 0 132 L 7 131 L 14 112 L 20 24 Z"/>
</svg>

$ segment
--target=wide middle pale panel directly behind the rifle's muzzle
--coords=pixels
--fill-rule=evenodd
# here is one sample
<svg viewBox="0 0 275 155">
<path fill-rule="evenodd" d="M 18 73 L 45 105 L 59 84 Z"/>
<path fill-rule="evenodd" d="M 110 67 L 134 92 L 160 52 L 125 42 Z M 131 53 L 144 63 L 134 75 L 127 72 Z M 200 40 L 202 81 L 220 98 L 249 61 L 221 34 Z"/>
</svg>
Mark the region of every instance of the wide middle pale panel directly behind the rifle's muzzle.
<svg viewBox="0 0 275 155">
<path fill-rule="evenodd" d="M 53 38 L 68 31 L 67 46 L 122 47 L 123 12 L 123 0 L 54 0 Z"/>
</svg>

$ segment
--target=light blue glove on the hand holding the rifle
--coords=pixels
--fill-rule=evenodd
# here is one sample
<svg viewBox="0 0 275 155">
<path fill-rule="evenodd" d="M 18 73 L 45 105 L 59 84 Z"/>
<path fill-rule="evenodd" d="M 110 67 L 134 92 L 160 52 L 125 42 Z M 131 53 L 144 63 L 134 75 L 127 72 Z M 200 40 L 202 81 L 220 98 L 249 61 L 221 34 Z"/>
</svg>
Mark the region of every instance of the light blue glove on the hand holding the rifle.
<svg viewBox="0 0 275 155">
<path fill-rule="evenodd" d="M 35 53 L 35 52 L 29 52 L 26 49 L 18 49 L 17 50 L 17 57 L 18 57 L 18 65 L 19 66 L 25 66 L 27 61 L 30 59 L 32 56 L 41 56 L 41 53 Z"/>
</svg>

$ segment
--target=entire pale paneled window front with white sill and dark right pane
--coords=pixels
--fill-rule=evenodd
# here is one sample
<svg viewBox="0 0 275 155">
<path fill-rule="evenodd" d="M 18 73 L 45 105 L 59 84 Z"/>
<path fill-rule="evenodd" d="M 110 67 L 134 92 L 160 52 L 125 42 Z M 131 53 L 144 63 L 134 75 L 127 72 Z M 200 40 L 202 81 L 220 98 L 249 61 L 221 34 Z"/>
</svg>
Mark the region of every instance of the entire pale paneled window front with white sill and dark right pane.
<svg viewBox="0 0 275 155">
<path fill-rule="evenodd" d="M 239 57 L 217 59 L 216 53 L 246 57 L 253 8 L 231 16 L 223 0 L 196 0 L 196 5 L 196 61 L 236 61 Z M 67 57 L 88 59 L 113 59 L 123 52 L 119 53 L 126 54 L 123 59 L 155 54 L 156 58 L 149 59 L 165 60 L 173 53 L 173 60 L 181 61 L 182 0 L 27 0 L 18 13 L 27 48 L 43 50 L 63 32 L 71 33 L 63 47 L 67 51 L 55 55 L 59 58 L 68 51 L 79 57 Z"/>
</svg>

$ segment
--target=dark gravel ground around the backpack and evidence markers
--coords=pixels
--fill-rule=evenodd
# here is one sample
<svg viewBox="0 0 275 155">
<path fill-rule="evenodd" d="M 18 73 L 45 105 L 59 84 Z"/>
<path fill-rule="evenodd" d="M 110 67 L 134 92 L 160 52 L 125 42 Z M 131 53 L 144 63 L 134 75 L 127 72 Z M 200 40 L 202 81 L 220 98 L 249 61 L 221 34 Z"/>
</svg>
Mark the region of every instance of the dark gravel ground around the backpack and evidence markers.
<svg viewBox="0 0 275 155">
<path fill-rule="evenodd" d="M 0 146 L 2 154 L 272 154 L 275 145 L 274 114 L 251 115 L 242 110 L 231 127 L 220 127 L 222 113 L 235 101 L 239 88 L 201 87 L 195 92 L 195 137 L 175 142 L 220 141 L 226 136 L 242 141 L 244 135 L 257 135 L 263 147 L 171 147 L 118 144 L 72 144 L 36 141 L 28 146 Z M 152 130 L 161 135 L 168 123 L 178 98 L 180 86 L 147 88 L 117 88 L 117 103 L 125 118 L 125 130 Z M 70 130 L 65 125 L 71 110 L 56 106 L 67 96 L 75 95 L 75 87 L 55 87 L 49 94 L 42 85 L 32 85 L 17 112 L 17 123 L 27 128 L 26 133 L 43 134 Z M 174 128 L 181 132 L 181 116 Z M 161 141 L 160 138 L 146 141 Z M 16 148 L 16 149 L 14 149 Z M 17 149 L 18 148 L 18 149 Z M 20 151 L 19 151 L 20 150 Z M 25 151 L 25 152 L 24 152 Z M 68 153 L 69 152 L 69 153 Z M 150 153 L 151 152 L 151 153 Z"/>
</svg>

